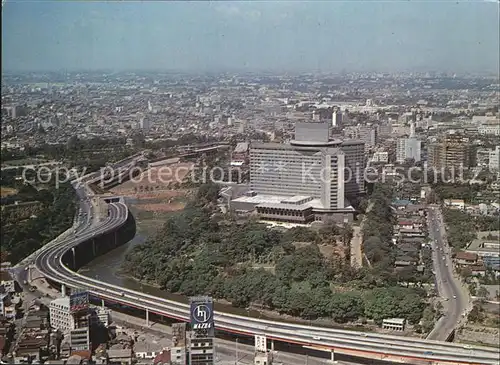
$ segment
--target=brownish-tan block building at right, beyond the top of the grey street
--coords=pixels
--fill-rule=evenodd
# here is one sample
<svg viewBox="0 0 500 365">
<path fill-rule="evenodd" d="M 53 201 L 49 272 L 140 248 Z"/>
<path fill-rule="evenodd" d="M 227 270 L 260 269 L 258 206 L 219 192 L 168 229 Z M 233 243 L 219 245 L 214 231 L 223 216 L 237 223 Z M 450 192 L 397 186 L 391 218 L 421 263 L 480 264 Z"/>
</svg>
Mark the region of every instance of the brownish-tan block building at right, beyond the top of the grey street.
<svg viewBox="0 0 500 365">
<path fill-rule="evenodd" d="M 451 130 L 440 140 L 431 143 L 427 151 L 430 167 L 435 169 L 467 168 L 470 164 L 469 138 Z"/>
</svg>

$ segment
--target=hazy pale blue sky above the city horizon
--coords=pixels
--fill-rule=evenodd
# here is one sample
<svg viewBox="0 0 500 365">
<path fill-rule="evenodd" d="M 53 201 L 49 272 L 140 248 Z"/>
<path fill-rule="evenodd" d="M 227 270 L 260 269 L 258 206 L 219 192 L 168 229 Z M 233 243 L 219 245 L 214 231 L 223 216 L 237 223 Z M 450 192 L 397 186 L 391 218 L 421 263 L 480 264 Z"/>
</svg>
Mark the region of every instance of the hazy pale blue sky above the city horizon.
<svg viewBox="0 0 500 365">
<path fill-rule="evenodd" d="M 2 68 L 498 72 L 498 7 L 6 0 Z"/>
</svg>

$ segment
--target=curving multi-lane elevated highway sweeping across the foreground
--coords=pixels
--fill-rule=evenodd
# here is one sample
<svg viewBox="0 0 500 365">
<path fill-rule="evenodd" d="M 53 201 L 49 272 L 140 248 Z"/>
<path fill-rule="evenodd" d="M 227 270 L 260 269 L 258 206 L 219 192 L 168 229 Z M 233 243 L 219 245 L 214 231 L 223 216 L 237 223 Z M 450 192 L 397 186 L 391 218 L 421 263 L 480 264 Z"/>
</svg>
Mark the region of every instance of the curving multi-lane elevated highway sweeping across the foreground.
<svg viewBox="0 0 500 365">
<path fill-rule="evenodd" d="M 63 287 L 84 288 L 91 295 L 108 302 L 115 302 L 142 309 L 181 321 L 189 318 L 189 306 L 134 290 L 118 287 L 86 277 L 73 271 L 75 248 L 86 241 L 105 235 L 122 227 L 128 218 L 128 209 L 122 199 L 110 201 L 109 214 L 103 221 L 85 227 L 78 237 L 69 237 L 48 245 L 35 259 L 37 269 L 49 280 Z M 394 362 L 433 364 L 499 364 L 498 350 L 487 347 L 406 338 L 375 333 L 305 326 L 280 321 L 263 320 L 229 313 L 216 312 L 217 329 L 253 336 L 265 334 L 269 340 L 293 343 L 332 353 Z"/>
</svg>

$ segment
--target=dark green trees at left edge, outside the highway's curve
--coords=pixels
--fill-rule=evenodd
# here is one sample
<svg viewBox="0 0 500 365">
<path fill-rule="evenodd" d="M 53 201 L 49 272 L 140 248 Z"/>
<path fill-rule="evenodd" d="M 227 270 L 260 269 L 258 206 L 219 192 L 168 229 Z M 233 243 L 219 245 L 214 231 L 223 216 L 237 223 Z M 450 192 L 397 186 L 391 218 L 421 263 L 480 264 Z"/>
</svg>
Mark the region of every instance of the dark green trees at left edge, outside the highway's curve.
<svg viewBox="0 0 500 365">
<path fill-rule="evenodd" d="M 22 182 L 13 184 L 9 177 L 2 171 L 1 186 L 15 187 L 17 193 L 1 201 L 0 245 L 2 261 L 15 264 L 71 227 L 76 200 L 69 183 L 57 189 L 54 182 L 34 187 Z"/>
</svg>

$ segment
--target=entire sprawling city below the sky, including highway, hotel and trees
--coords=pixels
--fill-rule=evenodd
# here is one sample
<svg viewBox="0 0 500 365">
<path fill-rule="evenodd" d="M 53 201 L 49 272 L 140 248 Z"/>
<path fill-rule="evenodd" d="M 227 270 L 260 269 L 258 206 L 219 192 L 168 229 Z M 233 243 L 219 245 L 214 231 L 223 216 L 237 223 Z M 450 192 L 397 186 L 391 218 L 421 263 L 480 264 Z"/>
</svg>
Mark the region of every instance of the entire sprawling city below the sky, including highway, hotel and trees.
<svg viewBox="0 0 500 365">
<path fill-rule="evenodd" d="M 498 364 L 498 73 L 2 69 L 1 97 L 2 364 Z"/>
</svg>

